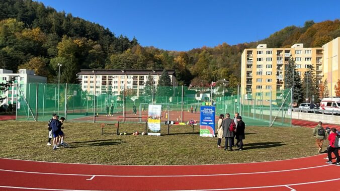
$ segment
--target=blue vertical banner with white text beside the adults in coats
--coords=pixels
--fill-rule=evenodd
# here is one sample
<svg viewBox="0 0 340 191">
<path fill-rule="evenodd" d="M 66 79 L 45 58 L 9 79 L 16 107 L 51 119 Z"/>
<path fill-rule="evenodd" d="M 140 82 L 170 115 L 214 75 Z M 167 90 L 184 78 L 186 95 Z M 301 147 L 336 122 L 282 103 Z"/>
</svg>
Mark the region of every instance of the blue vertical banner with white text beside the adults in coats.
<svg viewBox="0 0 340 191">
<path fill-rule="evenodd" d="M 215 107 L 201 106 L 200 136 L 215 137 Z"/>
</svg>

